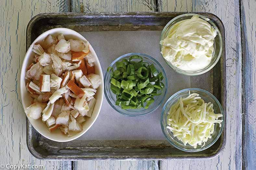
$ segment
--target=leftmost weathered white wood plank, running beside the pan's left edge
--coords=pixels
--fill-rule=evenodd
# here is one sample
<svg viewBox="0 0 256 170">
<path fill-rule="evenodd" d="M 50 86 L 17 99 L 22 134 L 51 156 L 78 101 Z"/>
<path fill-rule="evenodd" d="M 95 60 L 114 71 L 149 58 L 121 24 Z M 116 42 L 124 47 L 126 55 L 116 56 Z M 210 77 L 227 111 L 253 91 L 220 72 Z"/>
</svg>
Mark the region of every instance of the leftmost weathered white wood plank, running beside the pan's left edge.
<svg viewBox="0 0 256 170">
<path fill-rule="evenodd" d="M 26 53 L 29 20 L 44 12 L 67 12 L 66 0 L 0 1 L 0 163 L 44 165 L 45 169 L 71 169 L 71 161 L 41 161 L 26 144 L 26 115 L 21 105 L 19 76 Z"/>
</svg>

